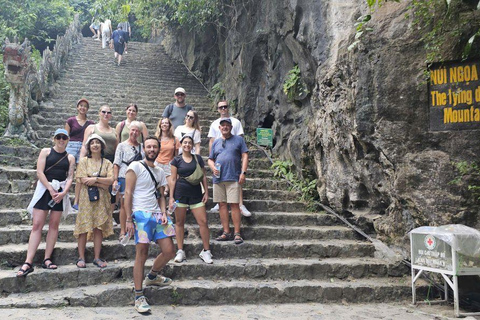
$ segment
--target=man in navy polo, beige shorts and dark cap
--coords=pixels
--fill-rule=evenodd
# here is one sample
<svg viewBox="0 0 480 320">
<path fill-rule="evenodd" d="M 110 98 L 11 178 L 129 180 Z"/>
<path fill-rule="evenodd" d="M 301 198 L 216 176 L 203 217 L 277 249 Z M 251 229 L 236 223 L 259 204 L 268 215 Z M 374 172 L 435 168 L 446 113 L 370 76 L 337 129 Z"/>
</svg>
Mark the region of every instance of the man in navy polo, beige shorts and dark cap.
<svg viewBox="0 0 480 320">
<path fill-rule="evenodd" d="M 208 166 L 213 172 L 213 201 L 220 207 L 220 221 L 223 233 L 217 241 L 234 240 L 235 244 L 243 243 L 240 234 L 242 216 L 240 213 L 240 185 L 245 182 L 248 167 L 248 148 L 241 136 L 232 134 L 232 120 L 220 119 L 222 137 L 216 139 L 208 156 Z M 232 210 L 234 237 L 230 233 L 228 207 Z"/>
</svg>

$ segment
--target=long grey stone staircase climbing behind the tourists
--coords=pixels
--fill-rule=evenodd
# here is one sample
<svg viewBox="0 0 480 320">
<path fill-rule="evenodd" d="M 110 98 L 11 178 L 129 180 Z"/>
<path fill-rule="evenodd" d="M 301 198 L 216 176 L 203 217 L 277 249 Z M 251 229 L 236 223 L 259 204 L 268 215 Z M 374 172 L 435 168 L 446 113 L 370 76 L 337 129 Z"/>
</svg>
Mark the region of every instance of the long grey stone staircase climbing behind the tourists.
<svg viewBox="0 0 480 320">
<path fill-rule="evenodd" d="M 216 117 L 203 87 L 158 44 L 132 42 L 125 63 L 115 66 L 113 52 L 100 43 L 83 39 L 68 58 L 55 95 L 34 116 L 34 128 L 48 145 L 53 131 L 75 114 L 75 103 L 87 98 L 89 118 L 96 121 L 98 108 L 113 108 L 113 125 L 125 118 L 124 109 L 134 102 L 139 120 L 153 133 L 173 90 L 182 86 L 187 101 L 199 112 L 203 132 L 202 155 L 207 155 L 206 134 Z M 25 259 L 31 221 L 25 208 L 31 199 L 38 149 L 0 144 L 0 307 L 39 308 L 62 306 L 133 305 L 132 270 L 135 247 L 122 246 L 117 234 L 104 241 L 102 257 L 109 266 L 92 265 L 93 247 L 87 245 L 87 268 L 78 269 L 75 215 L 60 225 L 53 260 L 55 271 L 43 270 L 44 243 L 35 257 L 35 272 L 16 278 Z M 170 262 L 164 274 L 174 283 L 147 288 L 152 304 L 218 305 L 292 302 L 392 302 L 410 298 L 408 273 L 403 265 L 375 258 L 374 246 L 362 241 L 337 219 L 325 213 L 305 212 L 298 194 L 285 182 L 273 179 L 263 152 L 252 148 L 245 184 L 245 205 L 253 212 L 242 218 L 245 243 L 211 241 L 214 264 L 198 257 L 202 249 L 198 226 L 188 216 L 185 241 L 187 262 Z M 211 182 L 210 182 L 211 185 Z M 211 194 L 211 188 L 209 188 Z M 208 204 L 211 208 L 212 203 Z M 208 214 L 212 237 L 221 232 L 218 214 Z M 146 270 L 158 254 L 150 250 Z M 41 294 L 39 294 L 41 293 Z"/>
</svg>

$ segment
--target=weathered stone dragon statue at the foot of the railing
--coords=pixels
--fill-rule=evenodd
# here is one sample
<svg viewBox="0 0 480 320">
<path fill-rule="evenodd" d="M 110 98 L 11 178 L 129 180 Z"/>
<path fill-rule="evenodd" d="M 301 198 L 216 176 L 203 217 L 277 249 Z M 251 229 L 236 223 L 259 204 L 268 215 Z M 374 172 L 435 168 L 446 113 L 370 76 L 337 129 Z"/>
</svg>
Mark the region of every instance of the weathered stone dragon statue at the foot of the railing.
<svg viewBox="0 0 480 320">
<path fill-rule="evenodd" d="M 38 86 L 37 71 L 30 59 L 30 42 L 25 39 L 22 44 L 10 42 L 7 38 L 2 47 L 5 79 L 10 84 L 10 101 L 8 104 L 8 127 L 6 137 L 18 137 L 26 140 L 38 139 L 32 129 L 29 115 L 36 105 L 32 99 L 34 87 Z"/>
</svg>

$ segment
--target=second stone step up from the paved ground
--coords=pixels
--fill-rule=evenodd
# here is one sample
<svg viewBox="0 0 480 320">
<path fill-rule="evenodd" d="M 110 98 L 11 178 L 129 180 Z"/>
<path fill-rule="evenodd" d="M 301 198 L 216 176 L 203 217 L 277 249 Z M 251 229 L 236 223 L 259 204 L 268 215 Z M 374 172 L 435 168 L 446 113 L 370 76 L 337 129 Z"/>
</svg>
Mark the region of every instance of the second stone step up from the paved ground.
<svg viewBox="0 0 480 320">
<path fill-rule="evenodd" d="M 215 257 L 214 257 L 215 259 Z M 101 283 L 133 281 L 133 261 L 111 261 L 100 270 L 88 261 L 87 268 L 80 270 L 74 264 L 61 265 L 56 271 L 35 266 L 25 279 L 17 279 L 16 271 L 0 270 L 0 287 L 3 295 L 11 293 L 45 292 L 77 288 Z M 147 260 L 145 273 L 153 264 Z M 179 264 L 170 261 L 162 274 L 177 281 L 187 279 L 214 280 L 354 280 L 363 278 L 401 277 L 408 272 L 403 264 L 389 264 L 374 258 L 327 258 L 327 259 L 225 259 L 214 260 L 207 265 L 198 255 Z M 53 278 L 55 280 L 53 280 Z"/>
</svg>

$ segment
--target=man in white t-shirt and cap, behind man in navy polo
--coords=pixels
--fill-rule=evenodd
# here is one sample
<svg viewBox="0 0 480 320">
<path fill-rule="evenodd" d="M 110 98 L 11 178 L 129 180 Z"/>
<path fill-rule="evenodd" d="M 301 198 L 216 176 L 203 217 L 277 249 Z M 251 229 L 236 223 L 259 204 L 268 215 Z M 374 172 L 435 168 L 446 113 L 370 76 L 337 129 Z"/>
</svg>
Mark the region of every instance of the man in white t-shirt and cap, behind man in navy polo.
<svg viewBox="0 0 480 320">
<path fill-rule="evenodd" d="M 210 150 L 212 149 L 212 143 L 215 141 L 215 139 L 221 138 L 222 133 L 220 132 L 220 120 L 222 118 L 230 118 L 232 120 L 232 135 L 234 136 L 241 136 L 243 137 L 243 126 L 240 120 L 230 116 L 230 113 L 228 112 L 228 102 L 226 100 L 219 101 L 217 104 L 218 108 L 218 113 L 220 113 L 220 118 L 217 120 L 213 121 L 212 124 L 210 125 L 210 130 L 208 131 L 208 138 L 210 139 L 208 142 L 208 153 L 210 154 Z M 247 210 L 245 205 L 243 204 L 243 191 L 242 187 L 240 186 L 240 211 L 242 212 L 242 215 L 245 217 L 250 217 L 252 213 Z M 218 203 L 210 209 L 210 212 L 217 213 L 219 212 L 220 207 L 218 206 Z"/>
</svg>

